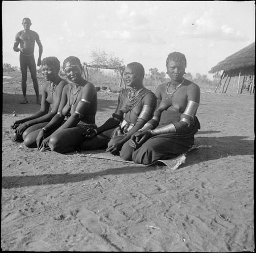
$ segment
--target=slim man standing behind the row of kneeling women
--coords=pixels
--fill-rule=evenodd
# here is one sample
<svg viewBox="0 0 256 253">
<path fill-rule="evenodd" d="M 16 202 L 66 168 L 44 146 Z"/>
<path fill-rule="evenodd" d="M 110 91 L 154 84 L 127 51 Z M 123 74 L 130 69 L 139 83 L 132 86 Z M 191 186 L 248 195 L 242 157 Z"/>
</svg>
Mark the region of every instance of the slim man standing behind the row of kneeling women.
<svg viewBox="0 0 256 253">
<path fill-rule="evenodd" d="M 24 30 L 18 32 L 15 36 L 15 42 L 13 49 L 15 52 L 20 52 L 19 63 L 20 70 L 22 72 L 22 93 L 23 101 L 22 104 L 28 103 L 27 101 L 27 67 L 30 69 L 31 78 L 33 81 L 35 93 L 36 93 L 36 103 L 40 104 L 39 100 L 39 88 L 38 80 L 36 78 L 36 63 L 34 57 L 35 41 L 39 47 L 39 56 L 38 56 L 38 67 L 41 65 L 41 56 L 43 53 L 43 45 L 40 42 L 39 35 L 30 30 L 31 20 L 29 18 L 23 18 L 22 26 Z M 20 47 L 18 45 L 20 44 Z"/>
</svg>

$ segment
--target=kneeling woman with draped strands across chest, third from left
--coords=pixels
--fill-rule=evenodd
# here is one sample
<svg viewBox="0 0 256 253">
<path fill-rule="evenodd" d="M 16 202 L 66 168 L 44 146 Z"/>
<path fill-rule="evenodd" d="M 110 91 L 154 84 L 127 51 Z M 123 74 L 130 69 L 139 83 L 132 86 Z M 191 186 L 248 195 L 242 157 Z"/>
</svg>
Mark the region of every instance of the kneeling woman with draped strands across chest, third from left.
<svg viewBox="0 0 256 253">
<path fill-rule="evenodd" d="M 123 72 L 129 88 L 121 91 L 112 118 L 102 126 L 88 132 L 81 143 L 82 150 L 100 150 L 119 155 L 124 143 L 152 118 L 156 98 L 151 90 L 144 88 L 144 68 L 140 63 L 127 64 Z"/>
</svg>

